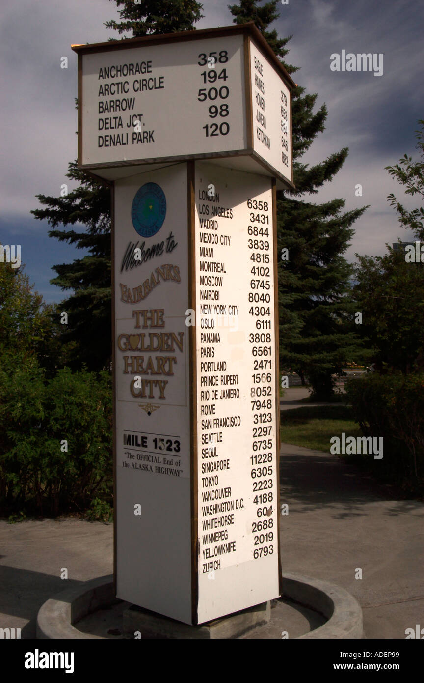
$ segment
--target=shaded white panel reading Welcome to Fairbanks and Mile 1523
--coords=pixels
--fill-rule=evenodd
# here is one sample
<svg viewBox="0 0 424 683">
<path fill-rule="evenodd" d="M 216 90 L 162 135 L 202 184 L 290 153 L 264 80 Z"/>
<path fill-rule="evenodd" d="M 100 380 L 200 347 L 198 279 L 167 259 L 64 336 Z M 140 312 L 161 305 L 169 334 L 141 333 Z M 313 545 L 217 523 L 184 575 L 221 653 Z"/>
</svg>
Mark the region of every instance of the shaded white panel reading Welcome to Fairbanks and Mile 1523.
<svg viewBox="0 0 424 683">
<path fill-rule="evenodd" d="M 191 623 L 187 166 L 115 183 L 117 596 Z"/>
</svg>

